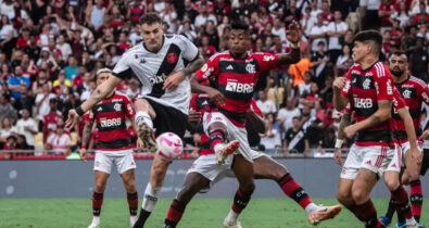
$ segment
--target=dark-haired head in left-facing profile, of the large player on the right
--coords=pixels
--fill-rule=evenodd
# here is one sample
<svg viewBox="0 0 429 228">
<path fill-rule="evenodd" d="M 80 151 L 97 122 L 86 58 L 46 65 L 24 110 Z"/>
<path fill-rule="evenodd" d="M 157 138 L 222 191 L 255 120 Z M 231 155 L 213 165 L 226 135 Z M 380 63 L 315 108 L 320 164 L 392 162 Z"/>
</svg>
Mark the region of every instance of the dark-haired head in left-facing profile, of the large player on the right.
<svg viewBox="0 0 429 228">
<path fill-rule="evenodd" d="M 376 30 L 363 30 L 354 38 L 353 60 L 363 63 L 367 58 L 378 56 L 381 52 L 382 37 Z"/>
</svg>

